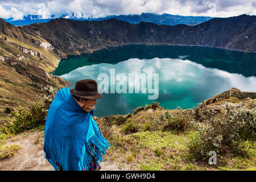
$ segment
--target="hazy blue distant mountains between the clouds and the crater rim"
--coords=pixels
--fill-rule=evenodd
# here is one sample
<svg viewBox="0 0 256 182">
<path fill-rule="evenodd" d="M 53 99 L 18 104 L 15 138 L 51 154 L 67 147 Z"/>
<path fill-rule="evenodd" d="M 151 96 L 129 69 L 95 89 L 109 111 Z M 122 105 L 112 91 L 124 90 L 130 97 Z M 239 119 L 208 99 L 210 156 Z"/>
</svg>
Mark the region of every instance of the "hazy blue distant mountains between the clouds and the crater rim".
<svg viewBox="0 0 256 182">
<path fill-rule="evenodd" d="M 12 20 L 12 19 L 5 19 L 6 22 L 14 24 L 15 26 L 23 26 L 32 23 L 46 23 L 49 20 L 54 19 L 54 15 L 51 16 L 52 18 L 49 19 L 40 19 L 39 15 L 26 15 L 23 17 L 24 20 Z M 63 15 L 60 18 L 67 17 L 67 15 Z M 180 15 L 170 15 L 170 14 L 153 14 L 153 13 L 142 13 L 141 15 L 109 15 L 104 18 L 75 18 L 72 15 L 69 19 L 72 20 L 89 20 L 89 21 L 101 21 L 106 19 L 115 18 L 118 20 L 123 20 L 129 23 L 140 23 L 140 22 L 151 22 L 155 24 L 166 24 L 166 25 L 175 25 L 175 24 L 187 24 L 187 25 L 195 25 L 203 22 L 207 22 L 212 17 L 209 16 L 180 16 Z"/>
</svg>

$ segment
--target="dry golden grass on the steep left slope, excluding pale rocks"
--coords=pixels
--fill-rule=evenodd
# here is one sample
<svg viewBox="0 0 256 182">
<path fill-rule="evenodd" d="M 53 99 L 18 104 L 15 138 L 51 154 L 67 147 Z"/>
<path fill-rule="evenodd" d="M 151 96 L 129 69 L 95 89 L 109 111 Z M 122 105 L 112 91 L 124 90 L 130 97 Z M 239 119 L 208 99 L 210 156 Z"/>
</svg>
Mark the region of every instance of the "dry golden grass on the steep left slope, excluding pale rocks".
<svg viewBox="0 0 256 182">
<path fill-rule="evenodd" d="M 0 55 L 5 57 L 6 62 L 0 61 L 0 96 L 8 96 L 10 99 L 0 99 L 0 105 L 8 107 L 26 106 L 26 101 L 33 100 L 33 97 L 38 96 L 39 89 L 47 84 L 63 88 L 64 85 L 60 82 L 52 78 L 46 79 L 44 73 L 38 71 L 38 68 L 41 68 L 47 72 L 52 72 L 59 63 L 60 58 L 58 55 L 43 47 L 35 47 L 28 41 L 19 41 L 9 36 L 6 36 L 7 40 L 3 40 L 2 38 L 5 38 L 5 36 L 0 34 Z M 46 42 L 46 40 L 39 37 L 31 36 L 31 39 Z M 40 52 L 43 55 L 43 61 L 38 56 L 24 53 L 18 47 Z M 29 60 L 16 60 L 18 55 L 24 56 Z M 16 64 L 11 64 L 10 60 L 14 60 Z M 31 78 L 28 74 L 34 75 L 36 79 Z M 36 84 L 39 80 L 40 84 Z"/>
</svg>

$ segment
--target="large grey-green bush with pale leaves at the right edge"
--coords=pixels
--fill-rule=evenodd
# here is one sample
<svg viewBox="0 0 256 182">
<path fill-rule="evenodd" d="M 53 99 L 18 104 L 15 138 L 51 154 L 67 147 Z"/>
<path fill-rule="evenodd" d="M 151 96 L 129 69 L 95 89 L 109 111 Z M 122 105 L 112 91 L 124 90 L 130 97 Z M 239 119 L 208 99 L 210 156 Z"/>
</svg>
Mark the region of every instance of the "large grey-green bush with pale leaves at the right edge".
<svg viewBox="0 0 256 182">
<path fill-rule="evenodd" d="M 233 154 L 245 156 L 241 150 L 246 139 L 255 142 L 256 112 L 241 107 L 226 105 L 226 114 L 209 119 L 205 127 L 199 129 L 199 134 L 189 142 L 189 153 L 194 159 L 208 158 L 209 151 L 223 154 L 226 146 L 230 147 Z M 247 147 L 248 148 L 248 147 Z"/>
</svg>

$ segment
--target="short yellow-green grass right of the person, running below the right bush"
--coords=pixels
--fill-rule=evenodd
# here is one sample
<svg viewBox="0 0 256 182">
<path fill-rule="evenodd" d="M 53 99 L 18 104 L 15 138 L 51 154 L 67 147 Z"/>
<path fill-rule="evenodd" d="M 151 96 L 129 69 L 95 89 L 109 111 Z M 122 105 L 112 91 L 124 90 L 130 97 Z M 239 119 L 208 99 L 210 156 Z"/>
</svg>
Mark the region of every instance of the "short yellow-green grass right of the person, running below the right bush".
<svg viewBox="0 0 256 182">
<path fill-rule="evenodd" d="M 188 160 L 188 143 L 197 131 L 141 131 L 115 138 L 120 146 L 111 146 L 109 159 L 145 171 L 159 170 L 253 170 L 255 158 L 229 156 L 218 158 L 217 165 Z M 117 142 L 117 141 L 115 141 Z M 110 141 L 110 144 L 112 141 Z M 124 159 L 123 157 L 126 156 Z M 108 158 L 108 156 L 106 156 Z"/>
</svg>

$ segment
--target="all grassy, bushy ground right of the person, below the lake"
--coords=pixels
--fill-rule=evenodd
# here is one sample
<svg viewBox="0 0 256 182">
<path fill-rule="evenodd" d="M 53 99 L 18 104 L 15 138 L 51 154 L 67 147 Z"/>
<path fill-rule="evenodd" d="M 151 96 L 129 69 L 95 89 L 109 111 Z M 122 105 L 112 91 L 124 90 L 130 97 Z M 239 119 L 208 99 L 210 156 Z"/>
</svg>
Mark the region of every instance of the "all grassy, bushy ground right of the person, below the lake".
<svg viewBox="0 0 256 182">
<path fill-rule="evenodd" d="M 121 125 L 115 121 L 120 116 L 112 116 L 112 125 L 97 118 L 111 144 L 105 160 L 141 170 L 254 170 L 256 112 L 251 101 L 186 110 L 146 105 Z M 209 151 L 216 151 L 216 165 L 208 164 Z"/>
</svg>

